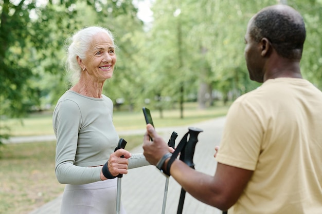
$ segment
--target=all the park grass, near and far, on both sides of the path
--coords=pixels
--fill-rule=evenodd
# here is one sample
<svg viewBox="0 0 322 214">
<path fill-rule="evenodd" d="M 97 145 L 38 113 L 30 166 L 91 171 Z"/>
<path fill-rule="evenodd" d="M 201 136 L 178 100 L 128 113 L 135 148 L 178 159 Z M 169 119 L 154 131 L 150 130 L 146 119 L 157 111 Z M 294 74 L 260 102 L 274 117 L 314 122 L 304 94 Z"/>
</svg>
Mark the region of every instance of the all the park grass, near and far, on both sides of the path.
<svg viewBox="0 0 322 214">
<path fill-rule="evenodd" d="M 147 106 L 149 108 L 149 106 Z M 152 109 L 152 108 L 151 108 Z M 217 105 L 197 110 L 196 104 L 185 104 L 184 119 L 180 111 L 165 110 L 163 118 L 151 110 L 156 127 L 182 126 L 225 115 L 227 106 Z M 1 121 L 11 128 L 15 136 L 53 134 L 51 112 L 31 114 L 28 118 Z M 116 129 L 144 129 L 141 110 L 135 112 L 115 111 L 113 121 Z M 21 123 L 22 122 L 22 123 Z M 142 135 L 127 136 L 127 150 L 142 143 Z M 6 144 L 0 146 L 0 214 L 27 214 L 63 192 L 64 185 L 55 176 L 56 142 Z"/>
</svg>

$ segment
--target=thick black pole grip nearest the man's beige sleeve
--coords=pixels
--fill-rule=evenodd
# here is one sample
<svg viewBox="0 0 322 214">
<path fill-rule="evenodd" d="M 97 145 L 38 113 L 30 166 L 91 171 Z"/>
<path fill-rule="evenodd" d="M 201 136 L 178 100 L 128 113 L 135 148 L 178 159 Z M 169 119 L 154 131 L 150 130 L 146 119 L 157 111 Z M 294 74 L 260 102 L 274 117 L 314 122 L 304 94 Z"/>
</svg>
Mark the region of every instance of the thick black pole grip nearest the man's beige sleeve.
<svg viewBox="0 0 322 214">
<path fill-rule="evenodd" d="M 194 168 L 193 155 L 196 143 L 198 143 L 198 134 L 203 130 L 200 128 L 189 127 L 189 140 L 181 152 L 180 160 L 185 162 L 189 167 Z"/>
</svg>

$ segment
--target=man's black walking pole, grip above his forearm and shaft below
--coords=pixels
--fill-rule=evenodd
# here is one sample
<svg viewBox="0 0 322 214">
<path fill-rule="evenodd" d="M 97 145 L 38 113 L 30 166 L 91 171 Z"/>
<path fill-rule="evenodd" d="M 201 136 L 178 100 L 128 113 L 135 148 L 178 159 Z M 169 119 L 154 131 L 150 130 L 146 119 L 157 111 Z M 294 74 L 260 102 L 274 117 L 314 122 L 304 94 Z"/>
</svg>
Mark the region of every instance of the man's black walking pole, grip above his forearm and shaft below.
<svg viewBox="0 0 322 214">
<path fill-rule="evenodd" d="M 193 163 L 194 148 L 196 143 L 198 142 L 198 134 L 202 131 L 203 130 L 199 128 L 189 127 L 189 132 L 188 132 L 189 140 L 180 154 L 180 160 L 182 160 L 184 163 L 186 163 L 188 166 L 190 166 L 193 169 L 194 169 L 194 163 Z M 177 214 L 182 214 L 185 196 L 186 196 L 186 190 L 181 188 Z"/>
</svg>

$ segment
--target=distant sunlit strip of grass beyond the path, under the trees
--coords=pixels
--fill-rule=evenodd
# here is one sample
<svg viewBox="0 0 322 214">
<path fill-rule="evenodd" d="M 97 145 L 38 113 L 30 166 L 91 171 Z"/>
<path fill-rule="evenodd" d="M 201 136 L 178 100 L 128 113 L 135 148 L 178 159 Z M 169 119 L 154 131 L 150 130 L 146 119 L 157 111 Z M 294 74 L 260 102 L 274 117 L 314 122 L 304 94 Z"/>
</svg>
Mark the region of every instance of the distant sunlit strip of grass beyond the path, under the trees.
<svg viewBox="0 0 322 214">
<path fill-rule="evenodd" d="M 194 124 L 209 120 L 216 116 L 225 115 L 227 109 L 228 106 L 223 106 L 219 103 L 217 106 L 198 110 L 196 103 L 188 103 L 185 104 L 183 119 L 180 118 L 180 111 L 178 109 L 164 110 L 163 118 L 161 118 L 159 111 L 152 110 L 152 108 L 150 110 L 155 127 L 167 127 Z M 141 110 L 134 112 L 114 111 L 113 122 L 117 131 L 145 128 L 145 120 Z M 10 128 L 9 133 L 12 136 L 53 134 L 52 112 L 31 114 L 28 118 L 4 120 L 1 123 Z"/>
</svg>

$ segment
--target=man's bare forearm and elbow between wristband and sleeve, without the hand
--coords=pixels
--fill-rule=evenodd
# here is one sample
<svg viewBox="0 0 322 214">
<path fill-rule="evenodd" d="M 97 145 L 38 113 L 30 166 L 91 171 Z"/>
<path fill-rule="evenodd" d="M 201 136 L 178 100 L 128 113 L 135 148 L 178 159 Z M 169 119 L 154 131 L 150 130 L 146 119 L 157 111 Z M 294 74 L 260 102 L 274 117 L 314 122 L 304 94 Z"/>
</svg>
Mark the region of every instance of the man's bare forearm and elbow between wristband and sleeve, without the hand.
<svg viewBox="0 0 322 214">
<path fill-rule="evenodd" d="M 176 160 L 170 174 L 194 198 L 227 210 L 236 203 L 253 171 L 218 163 L 214 176 L 209 176 Z"/>
</svg>

